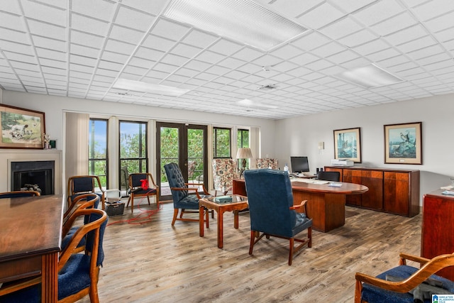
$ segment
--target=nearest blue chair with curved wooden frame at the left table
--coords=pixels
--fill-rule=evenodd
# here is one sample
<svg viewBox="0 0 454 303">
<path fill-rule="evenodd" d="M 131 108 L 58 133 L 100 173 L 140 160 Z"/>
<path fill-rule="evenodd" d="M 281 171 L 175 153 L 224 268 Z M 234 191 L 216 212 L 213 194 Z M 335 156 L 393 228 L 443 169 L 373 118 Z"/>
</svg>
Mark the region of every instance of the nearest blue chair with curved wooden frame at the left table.
<svg viewBox="0 0 454 303">
<path fill-rule="evenodd" d="M 84 224 L 74 233 L 67 248 L 62 250 L 58 261 L 58 300 L 76 302 L 90 296 L 91 302 L 99 302 L 99 268 L 104 261 L 102 248 L 107 214 L 100 209 L 79 209 L 74 211 L 70 221 L 80 216 L 89 216 L 89 223 Z M 87 236 L 85 253 L 74 253 L 74 248 Z M 0 288 L 1 303 L 40 302 L 40 277 L 21 282 L 4 283 Z"/>
</svg>

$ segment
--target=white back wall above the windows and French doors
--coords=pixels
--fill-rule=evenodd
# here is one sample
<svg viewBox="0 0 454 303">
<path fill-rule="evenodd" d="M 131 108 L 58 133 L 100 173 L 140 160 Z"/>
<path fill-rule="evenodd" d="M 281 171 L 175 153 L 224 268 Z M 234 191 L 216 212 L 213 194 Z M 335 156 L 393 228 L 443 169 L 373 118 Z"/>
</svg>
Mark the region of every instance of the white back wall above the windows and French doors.
<svg viewBox="0 0 454 303">
<path fill-rule="evenodd" d="M 271 157 L 275 155 L 275 120 L 271 119 L 245 118 L 225 114 L 208 114 L 203 111 L 165 109 L 12 91 L 3 92 L 3 103 L 25 109 L 43 111 L 45 113 L 45 132 L 50 134 L 50 139 L 57 140 L 57 149 L 63 150 L 63 163 L 65 163 L 65 140 L 71 140 L 71 138 L 65 138 L 64 136 L 66 127 L 65 112 L 67 111 L 88 113 L 96 117 L 109 118 L 110 116 L 118 116 L 119 119 L 137 119 L 140 121 L 155 119 L 157 121 L 189 122 L 227 127 L 255 126 L 260 128 L 262 155 L 267 154 Z M 257 157 L 257 155 L 254 156 Z M 65 170 L 65 167 L 63 167 L 63 170 Z M 63 175 L 65 176 L 65 174 Z"/>
</svg>

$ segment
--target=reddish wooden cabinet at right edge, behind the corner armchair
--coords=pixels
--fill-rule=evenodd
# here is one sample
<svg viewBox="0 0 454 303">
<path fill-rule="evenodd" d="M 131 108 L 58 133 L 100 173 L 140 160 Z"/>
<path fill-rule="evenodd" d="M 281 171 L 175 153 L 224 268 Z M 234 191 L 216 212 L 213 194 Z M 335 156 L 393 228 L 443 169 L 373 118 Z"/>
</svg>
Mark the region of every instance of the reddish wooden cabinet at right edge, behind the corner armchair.
<svg viewBox="0 0 454 303">
<path fill-rule="evenodd" d="M 454 196 L 441 192 L 439 189 L 423 197 L 421 257 L 428 259 L 454 252 Z M 454 280 L 454 268 L 445 268 L 437 275 Z"/>
</svg>

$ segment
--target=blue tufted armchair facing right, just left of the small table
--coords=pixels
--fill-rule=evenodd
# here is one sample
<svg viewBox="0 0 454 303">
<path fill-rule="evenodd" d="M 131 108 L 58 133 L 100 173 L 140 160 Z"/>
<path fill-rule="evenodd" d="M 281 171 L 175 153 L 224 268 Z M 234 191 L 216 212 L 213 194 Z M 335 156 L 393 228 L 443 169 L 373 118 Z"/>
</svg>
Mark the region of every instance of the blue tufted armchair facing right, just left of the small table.
<svg viewBox="0 0 454 303">
<path fill-rule="evenodd" d="M 183 218 L 185 212 L 199 213 L 199 199 L 202 197 L 209 197 L 209 192 L 206 192 L 204 189 L 204 194 L 199 194 L 200 184 L 185 183 L 182 175 L 182 171 L 179 169 L 177 163 L 169 163 L 164 165 L 165 173 L 167 175 L 167 180 L 169 181 L 170 190 L 172 191 L 173 199 L 173 220 L 172 226 L 175 224 L 176 220 L 179 221 L 199 221 L 199 216 L 197 219 L 187 219 Z M 188 185 L 194 185 L 194 187 L 188 187 Z M 189 194 L 193 192 L 194 194 Z M 178 216 L 178 212 L 181 209 L 181 213 Z M 188 211 L 188 209 L 190 209 Z M 209 217 L 208 211 L 205 210 L 206 214 L 206 227 L 209 226 Z"/>
</svg>

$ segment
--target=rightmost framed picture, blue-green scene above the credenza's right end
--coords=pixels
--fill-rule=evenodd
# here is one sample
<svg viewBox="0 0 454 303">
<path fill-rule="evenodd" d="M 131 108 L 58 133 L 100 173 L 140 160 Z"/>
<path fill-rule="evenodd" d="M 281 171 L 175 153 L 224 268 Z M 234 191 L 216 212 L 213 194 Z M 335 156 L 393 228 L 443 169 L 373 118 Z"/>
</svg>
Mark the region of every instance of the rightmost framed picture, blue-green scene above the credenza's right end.
<svg viewBox="0 0 454 303">
<path fill-rule="evenodd" d="M 421 122 L 384 126 L 384 162 L 423 164 Z"/>
</svg>

